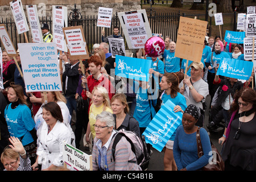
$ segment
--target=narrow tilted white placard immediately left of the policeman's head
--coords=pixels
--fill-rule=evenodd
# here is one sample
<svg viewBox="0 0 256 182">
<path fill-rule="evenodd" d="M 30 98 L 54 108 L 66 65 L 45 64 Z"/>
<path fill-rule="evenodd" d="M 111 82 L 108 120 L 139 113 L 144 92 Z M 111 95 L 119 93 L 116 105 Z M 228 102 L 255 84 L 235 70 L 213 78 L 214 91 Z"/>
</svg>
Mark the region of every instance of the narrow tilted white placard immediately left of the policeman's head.
<svg viewBox="0 0 256 182">
<path fill-rule="evenodd" d="M 43 42 L 42 30 L 38 18 L 38 9 L 36 5 L 26 5 L 28 20 L 30 22 L 30 29 L 33 42 Z"/>
</svg>

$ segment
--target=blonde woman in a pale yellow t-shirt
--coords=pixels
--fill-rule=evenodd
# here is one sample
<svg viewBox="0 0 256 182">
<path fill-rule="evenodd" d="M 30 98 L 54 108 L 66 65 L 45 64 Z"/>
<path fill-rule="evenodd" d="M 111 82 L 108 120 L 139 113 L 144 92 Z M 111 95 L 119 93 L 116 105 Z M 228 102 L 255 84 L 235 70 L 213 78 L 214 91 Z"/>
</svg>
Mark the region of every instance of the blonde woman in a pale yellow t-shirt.
<svg viewBox="0 0 256 182">
<path fill-rule="evenodd" d="M 89 141 L 89 134 L 92 133 L 92 137 L 96 136 L 96 132 L 94 130 L 93 125 L 96 122 L 96 115 L 100 114 L 102 111 L 109 111 L 113 113 L 110 107 L 110 100 L 108 91 L 103 86 L 96 86 L 92 91 L 92 101 L 90 105 L 89 111 L 89 122 L 86 130 L 85 139 L 86 142 L 90 143 Z"/>
</svg>

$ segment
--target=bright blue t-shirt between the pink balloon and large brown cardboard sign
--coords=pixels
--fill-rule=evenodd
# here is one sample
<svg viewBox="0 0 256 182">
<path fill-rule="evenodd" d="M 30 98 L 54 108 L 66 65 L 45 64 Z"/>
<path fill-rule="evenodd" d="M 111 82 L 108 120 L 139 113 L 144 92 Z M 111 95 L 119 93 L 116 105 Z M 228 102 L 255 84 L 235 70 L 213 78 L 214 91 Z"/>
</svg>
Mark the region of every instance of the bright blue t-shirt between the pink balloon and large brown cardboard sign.
<svg viewBox="0 0 256 182">
<path fill-rule="evenodd" d="M 180 58 L 175 57 L 175 52 L 170 52 L 170 50 L 164 50 L 164 60 L 165 60 L 165 69 L 168 73 L 175 73 L 180 71 Z"/>
</svg>

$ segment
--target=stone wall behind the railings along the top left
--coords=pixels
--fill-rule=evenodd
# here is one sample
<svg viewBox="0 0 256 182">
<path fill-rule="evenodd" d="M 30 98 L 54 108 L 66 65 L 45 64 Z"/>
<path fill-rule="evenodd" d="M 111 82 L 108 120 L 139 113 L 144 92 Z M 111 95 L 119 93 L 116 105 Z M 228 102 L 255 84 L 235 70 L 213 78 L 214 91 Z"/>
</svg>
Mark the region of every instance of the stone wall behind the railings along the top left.
<svg viewBox="0 0 256 182">
<path fill-rule="evenodd" d="M 3 19 L 13 18 L 10 1 L 11 0 L 0 1 L 0 17 Z M 52 16 L 52 5 L 67 6 L 69 15 L 71 10 L 75 8 L 75 3 L 76 8 L 80 9 L 82 16 L 97 15 L 98 7 L 113 8 L 113 13 L 141 9 L 140 0 L 22 0 L 26 15 L 26 5 L 37 5 L 39 17 L 47 16 L 47 18 Z"/>
</svg>

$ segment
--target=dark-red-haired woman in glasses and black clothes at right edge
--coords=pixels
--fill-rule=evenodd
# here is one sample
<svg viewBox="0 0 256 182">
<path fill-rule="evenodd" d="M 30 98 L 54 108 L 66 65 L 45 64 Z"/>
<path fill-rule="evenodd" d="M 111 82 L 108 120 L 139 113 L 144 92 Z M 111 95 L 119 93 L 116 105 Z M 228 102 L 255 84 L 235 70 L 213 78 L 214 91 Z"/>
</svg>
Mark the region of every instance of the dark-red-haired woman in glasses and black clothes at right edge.
<svg viewBox="0 0 256 182">
<path fill-rule="evenodd" d="M 234 96 L 230 121 L 223 137 L 222 159 L 226 171 L 256 170 L 256 92 L 242 89 Z"/>
</svg>

